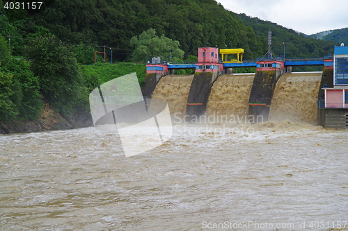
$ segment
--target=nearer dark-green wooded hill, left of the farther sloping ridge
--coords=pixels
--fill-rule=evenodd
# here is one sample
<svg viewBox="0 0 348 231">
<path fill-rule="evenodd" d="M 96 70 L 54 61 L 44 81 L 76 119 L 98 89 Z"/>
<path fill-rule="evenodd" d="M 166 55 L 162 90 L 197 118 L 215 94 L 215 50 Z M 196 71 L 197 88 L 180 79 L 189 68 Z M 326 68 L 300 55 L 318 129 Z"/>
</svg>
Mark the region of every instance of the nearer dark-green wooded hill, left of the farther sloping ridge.
<svg viewBox="0 0 348 231">
<path fill-rule="evenodd" d="M 12 20 L 22 18 L 16 16 L 19 11 L 9 12 Z M 179 41 L 185 58 L 197 55 L 197 48 L 207 42 L 220 48 L 244 46 L 246 58 L 264 52 L 260 48 L 264 39 L 214 0 L 61 0 L 29 15 L 26 22 L 19 21 L 23 35 L 33 33 L 34 25 L 43 26 L 67 44 L 110 46 L 118 61 L 131 58 L 129 40 L 150 28 L 159 37 Z M 111 55 L 109 49 L 106 52 Z"/>
</svg>

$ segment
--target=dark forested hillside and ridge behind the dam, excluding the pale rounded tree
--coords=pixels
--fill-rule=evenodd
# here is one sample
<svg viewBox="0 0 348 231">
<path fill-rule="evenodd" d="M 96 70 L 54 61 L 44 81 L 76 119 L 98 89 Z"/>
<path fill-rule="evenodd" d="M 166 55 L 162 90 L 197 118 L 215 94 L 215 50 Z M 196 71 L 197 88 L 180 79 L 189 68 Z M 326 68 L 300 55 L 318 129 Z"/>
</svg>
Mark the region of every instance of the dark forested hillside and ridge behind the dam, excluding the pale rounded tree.
<svg viewBox="0 0 348 231">
<path fill-rule="evenodd" d="M 275 23 L 235 15 L 214 0 L 61 0 L 47 1 L 37 12 L 26 11 L 6 12 L 17 31 L 3 32 L 15 34 L 14 43 L 25 44 L 16 41 L 20 40 L 17 37 L 27 38 L 46 28 L 67 44 L 110 46 L 113 59 L 118 61 L 131 60 L 134 49 L 129 41 L 149 28 L 155 29 L 159 37 L 179 41 L 184 59 L 196 55 L 197 48 L 207 42 L 220 48 L 244 48 L 246 59 L 262 56 L 267 51 L 269 30 L 272 49 L 278 56 L 283 55 L 283 42 L 287 57 L 323 56 L 332 53 L 335 45 L 298 35 Z M 18 48 L 14 52 L 21 53 Z M 111 55 L 110 49 L 106 52 Z"/>
</svg>

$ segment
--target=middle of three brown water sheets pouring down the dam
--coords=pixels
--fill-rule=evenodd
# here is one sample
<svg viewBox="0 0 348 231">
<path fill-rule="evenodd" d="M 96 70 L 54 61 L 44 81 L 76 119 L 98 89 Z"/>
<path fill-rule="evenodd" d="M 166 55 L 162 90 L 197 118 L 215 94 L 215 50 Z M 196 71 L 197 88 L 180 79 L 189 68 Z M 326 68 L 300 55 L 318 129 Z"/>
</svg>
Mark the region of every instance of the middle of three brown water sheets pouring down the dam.
<svg viewBox="0 0 348 231">
<path fill-rule="evenodd" d="M 223 74 L 212 87 L 207 102 L 207 116 L 246 116 L 255 73 Z"/>
</svg>

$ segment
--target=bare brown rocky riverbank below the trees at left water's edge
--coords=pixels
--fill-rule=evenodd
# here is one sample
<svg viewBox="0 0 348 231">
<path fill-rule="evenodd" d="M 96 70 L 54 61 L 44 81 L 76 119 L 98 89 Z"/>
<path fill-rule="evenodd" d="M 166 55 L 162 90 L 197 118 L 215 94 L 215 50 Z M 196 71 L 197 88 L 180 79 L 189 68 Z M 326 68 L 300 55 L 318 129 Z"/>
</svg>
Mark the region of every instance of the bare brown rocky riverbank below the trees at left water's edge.
<svg viewBox="0 0 348 231">
<path fill-rule="evenodd" d="M 48 103 L 40 112 L 40 118 L 33 121 L 0 122 L 0 134 L 42 132 L 46 130 L 66 130 L 93 126 L 90 113 L 77 110 L 74 114 L 62 117 Z"/>
</svg>

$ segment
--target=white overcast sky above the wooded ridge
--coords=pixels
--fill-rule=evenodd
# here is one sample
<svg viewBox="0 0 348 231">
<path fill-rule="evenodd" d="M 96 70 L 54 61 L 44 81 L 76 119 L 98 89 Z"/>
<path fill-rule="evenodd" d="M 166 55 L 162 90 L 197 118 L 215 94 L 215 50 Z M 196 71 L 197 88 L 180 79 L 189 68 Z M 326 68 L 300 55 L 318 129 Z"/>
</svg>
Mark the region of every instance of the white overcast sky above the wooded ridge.
<svg viewBox="0 0 348 231">
<path fill-rule="evenodd" d="M 348 27 L 347 0 L 216 0 L 224 8 L 307 35 Z"/>
</svg>

